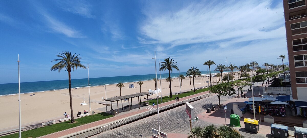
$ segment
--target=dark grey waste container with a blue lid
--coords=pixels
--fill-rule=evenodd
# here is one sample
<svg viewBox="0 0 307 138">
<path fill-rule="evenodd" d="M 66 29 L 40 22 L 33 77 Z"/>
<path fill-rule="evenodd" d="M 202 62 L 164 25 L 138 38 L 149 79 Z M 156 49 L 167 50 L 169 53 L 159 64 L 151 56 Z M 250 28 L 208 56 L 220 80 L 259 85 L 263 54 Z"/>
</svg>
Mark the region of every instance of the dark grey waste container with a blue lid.
<svg viewBox="0 0 307 138">
<path fill-rule="evenodd" d="M 284 125 L 271 124 L 271 136 L 275 138 L 289 137 L 288 127 Z"/>
</svg>

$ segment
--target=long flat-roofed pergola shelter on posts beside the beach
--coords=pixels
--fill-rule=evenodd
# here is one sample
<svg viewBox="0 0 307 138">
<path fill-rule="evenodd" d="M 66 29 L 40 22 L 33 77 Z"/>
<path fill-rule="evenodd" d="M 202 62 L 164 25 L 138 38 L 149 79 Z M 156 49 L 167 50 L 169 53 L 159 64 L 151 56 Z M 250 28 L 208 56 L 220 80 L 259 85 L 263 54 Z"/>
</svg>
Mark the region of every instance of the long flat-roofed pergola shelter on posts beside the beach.
<svg viewBox="0 0 307 138">
<path fill-rule="evenodd" d="M 104 101 L 111 102 L 111 109 L 112 109 L 112 102 L 117 101 L 117 114 L 119 114 L 118 101 L 128 99 L 128 108 L 129 108 L 129 111 L 130 111 L 130 98 L 131 98 L 131 105 L 132 105 L 132 98 L 138 97 L 138 103 L 140 103 L 140 97 L 144 96 L 144 95 L 147 95 L 147 101 L 148 101 L 148 94 L 152 94 L 152 93 L 136 93 L 136 94 L 130 94 L 130 95 L 124 95 L 124 96 L 117 96 L 117 97 L 113 97 L 113 98 L 104 99 Z M 149 104 L 147 106 L 149 106 Z M 140 109 L 140 104 L 138 104 L 138 108 Z M 122 107 L 122 109 L 123 109 L 123 107 Z"/>
</svg>

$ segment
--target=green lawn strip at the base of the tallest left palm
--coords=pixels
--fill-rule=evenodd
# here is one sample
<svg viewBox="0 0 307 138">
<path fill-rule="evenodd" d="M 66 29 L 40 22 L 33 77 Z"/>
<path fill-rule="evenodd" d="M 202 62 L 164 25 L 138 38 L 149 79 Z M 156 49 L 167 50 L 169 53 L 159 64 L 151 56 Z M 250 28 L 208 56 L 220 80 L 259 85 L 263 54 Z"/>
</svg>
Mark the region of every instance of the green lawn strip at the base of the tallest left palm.
<svg viewBox="0 0 307 138">
<path fill-rule="evenodd" d="M 103 120 L 109 117 L 113 117 L 113 115 L 108 114 L 108 113 L 98 113 L 95 115 L 90 115 L 90 116 L 85 116 L 85 117 L 81 117 L 81 118 L 77 118 L 75 119 L 76 122 L 71 124 L 70 120 L 69 121 L 65 121 L 65 122 L 60 122 L 57 124 L 52 124 L 52 125 L 47 125 L 44 127 L 40 127 L 40 128 L 35 128 L 35 129 L 31 129 L 31 130 L 27 130 L 27 131 L 23 131 L 21 132 L 21 137 L 39 137 L 39 136 L 44 136 L 44 135 L 48 135 L 54 132 L 58 132 L 58 131 L 62 131 L 65 129 L 69 129 L 69 128 L 73 128 L 73 127 L 77 127 L 80 125 L 84 125 L 87 123 L 91 123 L 91 122 L 95 122 L 95 121 L 99 121 L 99 120 Z M 2 136 L 1 138 L 16 138 L 19 137 L 19 133 L 14 133 L 11 135 L 6 135 L 6 136 Z"/>
</svg>

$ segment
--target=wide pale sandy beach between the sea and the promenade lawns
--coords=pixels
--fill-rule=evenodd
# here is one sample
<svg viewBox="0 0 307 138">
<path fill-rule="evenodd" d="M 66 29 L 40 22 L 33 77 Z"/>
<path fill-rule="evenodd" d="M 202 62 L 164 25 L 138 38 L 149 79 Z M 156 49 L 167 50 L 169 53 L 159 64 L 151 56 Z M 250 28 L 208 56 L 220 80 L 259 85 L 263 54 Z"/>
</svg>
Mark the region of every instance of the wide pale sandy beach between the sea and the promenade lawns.
<svg viewBox="0 0 307 138">
<path fill-rule="evenodd" d="M 223 73 L 226 75 L 227 73 Z M 209 77 L 198 77 L 195 78 L 195 88 L 208 86 Z M 235 77 L 238 79 L 237 75 Z M 213 82 L 216 82 L 217 78 L 212 77 Z M 142 92 L 148 92 L 149 89 L 154 90 L 155 85 L 154 81 L 143 81 Z M 129 95 L 140 92 L 140 86 L 137 82 L 132 82 L 134 88 L 129 88 L 128 83 L 124 83 L 122 88 L 122 95 Z M 157 87 L 160 88 L 160 81 L 157 82 Z M 181 91 L 189 91 L 193 88 L 193 79 L 189 78 L 183 79 L 183 86 L 181 86 Z M 129 83 L 130 84 L 130 83 Z M 214 83 L 216 84 L 216 83 Z M 68 84 L 67 84 L 68 85 Z M 210 84 L 209 84 L 210 85 Z M 161 80 L 162 86 L 162 96 L 168 96 L 170 94 L 169 84 L 165 82 L 165 79 Z M 107 85 L 107 98 L 112 98 L 119 96 L 120 90 L 114 85 Z M 84 110 L 91 113 L 101 113 L 106 111 L 106 106 L 98 104 L 96 102 L 102 102 L 102 99 L 106 98 L 105 86 L 92 86 L 90 87 L 91 95 L 91 111 L 89 111 L 89 93 L 88 87 L 72 89 L 72 102 L 73 102 L 73 111 L 74 117 L 78 111 L 82 112 Z M 172 92 L 173 94 L 180 92 L 179 80 L 178 78 L 173 79 L 172 82 Z M 21 125 L 28 126 L 31 124 L 40 124 L 42 122 L 47 122 L 51 120 L 58 121 L 61 118 L 64 118 L 64 112 L 70 113 L 70 104 L 69 104 L 69 90 L 55 90 L 55 91 L 46 91 L 33 93 L 35 95 L 30 96 L 29 94 L 21 94 Z M 160 95 L 160 94 L 159 94 Z M 156 98 L 156 95 L 151 95 L 149 98 Z M 80 103 L 84 102 L 88 105 L 81 105 Z M 133 98 L 133 104 L 138 102 L 138 98 Z M 141 100 L 145 99 L 141 97 Z M 9 95 L 9 96 L 0 96 L 1 101 L 1 110 L 2 112 L 2 122 L 0 125 L 0 131 L 18 128 L 19 126 L 19 108 L 18 108 L 18 94 Z M 105 101 L 103 101 L 105 102 Z M 110 104 L 110 102 L 107 102 Z M 123 101 L 123 105 L 128 105 L 127 101 Z M 116 103 L 112 103 L 112 106 L 117 107 Z M 113 107 L 113 108 L 114 108 Z M 119 107 L 121 108 L 121 103 L 119 102 Z M 111 106 L 108 106 L 108 111 L 111 109 Z M 115 109 L 115 108 L 114 108 Z"/>
</svg>

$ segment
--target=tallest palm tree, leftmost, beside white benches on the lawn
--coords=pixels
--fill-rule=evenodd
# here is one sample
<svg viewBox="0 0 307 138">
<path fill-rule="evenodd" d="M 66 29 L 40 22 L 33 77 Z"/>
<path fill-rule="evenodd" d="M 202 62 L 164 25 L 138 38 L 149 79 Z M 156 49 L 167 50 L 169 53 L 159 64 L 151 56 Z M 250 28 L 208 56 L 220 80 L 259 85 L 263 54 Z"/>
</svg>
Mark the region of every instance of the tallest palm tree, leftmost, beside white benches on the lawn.
<svg viewBox="0 0 307 138">
<path fill-rule="evenodd" d="M 58 63 L 54 64 L 51 68 L 50 71 L 56 71 L 58 70 L 59 72 L 62 69 L 65 69 L 65 71 L 68 71 L 68 86 L 69 86 L 69 103 L 70 103 L 70 113 L 71 113 L 71 122 L 75 122 L 75 118 L 73 115 L 72 111 L 72 83 L 71 83 L 71 78 L 70 78 L 70 72 L 74 71 L 75 68 L 77 69 L 78 67 L 86 69 L 84 65 L 80 63 L 81 58 L 78 57 L 79 55 L 76 56 L 76 54 L 72 55 L 72 52 L 62 52 L 59 53 L 59 55 L 56 55 L 57 58 L 59 59 L 53 59 L 51 62 L 56 61 Z"/>
</svg>

